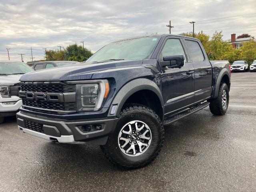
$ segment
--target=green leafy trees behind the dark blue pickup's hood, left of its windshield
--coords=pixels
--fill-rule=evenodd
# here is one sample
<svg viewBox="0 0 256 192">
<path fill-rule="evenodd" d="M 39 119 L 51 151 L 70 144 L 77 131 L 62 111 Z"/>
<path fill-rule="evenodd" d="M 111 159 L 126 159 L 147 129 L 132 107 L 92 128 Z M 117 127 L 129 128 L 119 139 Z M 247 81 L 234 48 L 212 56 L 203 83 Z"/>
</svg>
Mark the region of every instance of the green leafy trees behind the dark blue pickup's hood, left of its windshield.
<svg viewBox="0 0 256 192">
<path fill-rule="evenodd" d="M 47 60 L 48 61 L 78 61 L 82 62 L 87 60 L 90 56 L 92 56 L 92 52 L 83 46 L 78 46 L 77 44 L 72 44 L 66 47 L 64 50 L 47 50 Z M 45 56 L 46 58 L 46 56 Z"/>
</svg>

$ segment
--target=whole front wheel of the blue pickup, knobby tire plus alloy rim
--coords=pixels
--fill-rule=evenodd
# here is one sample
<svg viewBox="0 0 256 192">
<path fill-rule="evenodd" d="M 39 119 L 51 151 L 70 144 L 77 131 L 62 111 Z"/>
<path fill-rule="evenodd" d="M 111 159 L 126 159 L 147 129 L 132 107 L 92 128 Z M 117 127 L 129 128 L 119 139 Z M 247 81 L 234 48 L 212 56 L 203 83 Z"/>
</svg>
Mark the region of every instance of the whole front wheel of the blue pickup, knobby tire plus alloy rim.
<svg viewBox="0 0 256 192">
<path fill-rule="evenodd" d="M 115 131 L 101 148 L 116 166 L 134 169 L 150 164 L 163 142 L 164 127 L 158 115 L 146 106 L 130 104 L 120 112 Z"/>
</svg>

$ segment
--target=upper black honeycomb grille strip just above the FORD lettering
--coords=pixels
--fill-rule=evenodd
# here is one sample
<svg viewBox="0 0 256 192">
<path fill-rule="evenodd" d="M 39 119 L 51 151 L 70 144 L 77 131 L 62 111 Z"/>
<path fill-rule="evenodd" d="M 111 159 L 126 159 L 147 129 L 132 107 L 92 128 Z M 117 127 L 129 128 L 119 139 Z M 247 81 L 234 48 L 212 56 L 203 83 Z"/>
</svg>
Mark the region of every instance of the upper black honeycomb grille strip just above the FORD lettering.
<svg viewBox="0 0 256 192">
<path fill-rule="evenodd" d="M 44 93 L 71 93 L 76 92 L 75 85 L 22 85 L 21 91 Z"/>
</svg>

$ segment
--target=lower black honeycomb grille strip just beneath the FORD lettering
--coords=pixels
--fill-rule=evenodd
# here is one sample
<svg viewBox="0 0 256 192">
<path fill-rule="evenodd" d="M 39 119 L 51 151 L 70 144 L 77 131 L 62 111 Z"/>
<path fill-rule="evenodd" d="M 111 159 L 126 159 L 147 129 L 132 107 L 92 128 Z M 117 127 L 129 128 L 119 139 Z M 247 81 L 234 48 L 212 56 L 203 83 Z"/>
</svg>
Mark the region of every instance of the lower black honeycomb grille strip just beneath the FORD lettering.
<svg viewBox="0 0 256 192">
<path fill-rule="evenodd" d="M 76 110 L 76 102 L 64 103 L 64 102 L 48 102 L 48 101 L 33 101 L 28 99 L 22 99 L 22 104 L 30 107 L 37 107 L 50 110 L 62 110 L 72 111 Z"/>
</svg>

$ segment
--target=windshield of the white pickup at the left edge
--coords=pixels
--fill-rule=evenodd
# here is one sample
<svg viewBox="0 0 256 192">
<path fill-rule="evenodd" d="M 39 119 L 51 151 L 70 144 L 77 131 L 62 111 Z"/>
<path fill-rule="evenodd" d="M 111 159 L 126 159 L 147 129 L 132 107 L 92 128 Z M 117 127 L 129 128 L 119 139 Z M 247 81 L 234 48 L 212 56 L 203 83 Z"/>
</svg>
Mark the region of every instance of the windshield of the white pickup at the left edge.
<svg viewBox="0 0 256 192">
<path fill-rule="evenodd" d="M 0 75 L 25 74 L 33 71 L 22 62 L 0 62 Z"/>
</svg>

